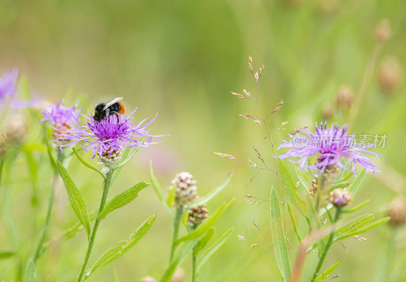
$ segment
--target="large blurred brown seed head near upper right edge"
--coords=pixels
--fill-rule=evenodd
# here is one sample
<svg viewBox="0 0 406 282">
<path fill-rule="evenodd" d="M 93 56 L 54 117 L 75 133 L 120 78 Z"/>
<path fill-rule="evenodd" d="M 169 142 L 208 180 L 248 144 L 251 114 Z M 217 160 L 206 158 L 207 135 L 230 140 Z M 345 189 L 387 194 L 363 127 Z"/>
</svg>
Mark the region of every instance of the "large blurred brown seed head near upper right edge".
<svg viewBox="0 0 406 282">
<path fill-rule="evenodd" d="M 385 92 L 396 90 L 402 80 L 402 70 L 397 58 L 386 57 L 378 69 L 378 81 L 380 88 Z"/>
</svg>

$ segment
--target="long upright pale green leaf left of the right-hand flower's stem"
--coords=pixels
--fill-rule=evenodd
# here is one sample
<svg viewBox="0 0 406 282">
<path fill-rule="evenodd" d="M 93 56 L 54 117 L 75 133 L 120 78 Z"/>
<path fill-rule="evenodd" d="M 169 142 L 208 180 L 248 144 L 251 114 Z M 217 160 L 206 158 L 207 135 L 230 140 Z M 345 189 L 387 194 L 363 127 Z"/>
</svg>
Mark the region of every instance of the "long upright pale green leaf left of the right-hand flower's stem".
<svg viewBox="0 0 406 282">
<path fill-rule="evenodd" d="M 274 187 L 270 192 L 270 229 L 274 243 L 276 261 L 284 281 L 290 280 L 290 264 L 288 247 L 283 234 L 281 207 L 278 194 Z"/>
</svg>

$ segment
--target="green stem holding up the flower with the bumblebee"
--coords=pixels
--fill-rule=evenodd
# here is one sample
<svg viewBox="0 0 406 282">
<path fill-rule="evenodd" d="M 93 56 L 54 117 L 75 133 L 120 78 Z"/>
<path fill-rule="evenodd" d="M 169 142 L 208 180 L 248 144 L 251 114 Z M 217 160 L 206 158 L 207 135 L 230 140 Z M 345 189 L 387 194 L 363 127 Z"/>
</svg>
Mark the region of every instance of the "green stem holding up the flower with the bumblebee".
<svg viewBox="0 0 406 282">
<path fill-rule="evenodd" d="M 97 228 L 98 228 L 98 225 L 100 223 L 100 220 L 98 219 L 98 215 L 104 209 L 105 204 L 106 204 L 106 200 L 107 200 L 107 194 L 109 194 L 111 178 L 112 178 L 113 172 L 114 172 L 114 169 L 112 167 L 110 167 L 109 169 L 110 170 L 107 173 L 105 180 L 103 181 L 103 195 L 101 196 L 100 207 L 99 207 L 98 212 L 97 212 L 96 220 L 94 221 L 93 230 L 92 230 L 92 233 L 90 235 L 90 240 L 89 240 L 89 244 L 87 245 L 86 255 L 85 255 L 85 258 L 83 260 L 82 268 L 80 269 L 77 282 L 82 281 L 82 278 L 83 278 L 83 275 L 84 275 L 84 272 L 85 272 L 85 269 L 86 269 L 87 262 L 89 261 L 90 253 L 92 252 L 92 248 L 93 248 L 93 244 L 94 244 L 94 238 L 96 237 Z"/>
</svg>

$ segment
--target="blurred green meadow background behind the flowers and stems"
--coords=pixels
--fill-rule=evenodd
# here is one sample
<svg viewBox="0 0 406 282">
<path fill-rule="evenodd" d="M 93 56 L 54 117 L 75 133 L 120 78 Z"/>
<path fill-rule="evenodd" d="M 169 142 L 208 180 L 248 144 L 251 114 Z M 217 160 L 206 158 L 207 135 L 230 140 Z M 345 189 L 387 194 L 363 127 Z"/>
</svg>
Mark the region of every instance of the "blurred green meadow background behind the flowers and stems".
<svg viewBox="0 0 406 282">
<path fill-rule="evenodd" d="M 237 162 L 221 159 L 214 151 L 228 153 L 241 160 L 256 160 L 252 145 L 272 161 L 272 152 L 263 141 L 262 129 L 239 117 L 244 112 L 258 114 L 255 105 L 239 100 L 230 91 L 245 88 L 255 92 L 247 67 L 248 54 L 254 69 L 264 64 L 258 84 L 259 101 L 265 113 L 271 112 L 282 98 L 282 110 L 269 119 L 276 130 L 289 121 L 287 131 L 301 124 L 313 124 L 335 108 L 340 85 L 350 85 L 356 93 L 364 76 L 376 40 L 374 30 L 384 18 L 390 22 L 392 35 L 377 57 L 371 81 L 359 114 L 352 124 L 358 134 L 386 134 L 386 147 L 379 149 L 386 162 L 375 179 L 368 175 L 359 203 L 371 198 L 369 209 L 382 210 L 396 193 L 405 192 L 406 166 L 404 140 L 406 98 L 402 83 L 406 53 L 406 3 L 393 1 L 19 1 L 0 2 L 0 67 L 18 67 L 26 74 L 32 91 L 55 102 L 63 97 L 81 98 L 84 111 L 96 102 L 123 96 L 131 111 L 139 107 L 135 120 L 158 112 L 152 133 L 170 134 L 159 145 L 140 151 L 127 165 L 111 190 L 115 195 L 130 185 L 149 181 L 148 164 L 153 160 L 157 178 L 163 188 L 180 171 L 191 172 L 198 181 L 200 195 L 222 182 L 230 169 L 233 178 L 217 199 L 209 203 L 214 211 L 224 199 L 236 201 L 216 224 L 219 236 L 229 227 L 235 231 L 227 243 L 202 269 L 201 281 L 272 281 L 280 274 L 272 244 L 262 243 L 250 249 L 249 242 L 264 238 L 251 217 L 270 238 L 267 203 L 249 205 L 243 194 L 267 199 L 276 178 L 256 173 Z M 395 85 L 383 88 L 385 58 L 395 62 Z M 395 67 L 394 67 L 395 66 Z M 394 71 L 394 69 L 395 71 Z M 389 78 L 390 80 L 390 78 Z M 393 79 L 390 80 L 393 82 Z M 68 93 L 66 95 L 66 92 Z M 347 112 L 335 111 L 329 120 L 347 121 Z M 280 135 L 278 137 L 283 137 Z M 91 155 L 88 155 L 89 158 Z M 12 173 L 26 175 L 20 158 Z M 258 162 L 257 162 L 258 164 Z M 73 160 L 68 168 L 80 187 L 89 210 L 96 209 L 101 196 L 99 177 Z M 292 169 L 292 166 L 290 166 Z M 292 169 L 293 171 L 293 169 Z M 39 217 L 35 221 L 28 182 L 12 184 L 13 217 L 25 248 L 37 242 L 38 226 L 44 220 L 49 191 L 49 162 L 41 164 Z M 171 225 L 152 187 L 148 187 L 128 206 L 121 208 L 101 224 L 89 265 L 107 248 L 124 240 L 148 216 L 158 213 L 152 229 L 125 256 L 100 268 L 89 281 L 111 281 L 117 269 L 121 281 L 138 281 L 151 275 L 160 278 L 170 250 Z M 297 214 L 299 216 L 299 214 Z M 381 215 L 378 215 L 381 216 Z M 288 236 L 296 243 L 285 210 Z M 76 223 L 63 187 L 57 192 L 51 235 Z M 35 229 L 35 225 L 37 229 Z M 0 225 L 1 227 L 1 225 Z M 304 222 L 299 225 L 303 234 Z M 4 225 L 2 227 L 4 229 Z M 37 231 L 36 231 L 37 230 Z M 376 259 L 385 253 L 388 227 L 364 234 L 366 241 L 344 240 L 348 252 L 335 244 L 325 267 L 343 260 L 333 274 L 343 281 L 373 280 Z M 404 268 L 402 256 L 406 233 L 398 234 L 397 269 Z M 215 238 L 217 238 L 215 237 Z M 11 244 L 6 232 L 0 234 L 2 245 Z M 80 268 L 86 248 L 84 232 L 70 241 L 53 246 L 37 266 L 39 281 L 45 273 L 51 281 L 71 281 Z M 293 265 L 297 247 L 289 250 Z M 302 279 L 309 279 L 317 255 L 310 254 Z M 15 261 L 2 261 L 0 280 L 13 280 Z M 25 267 L 25 266 L 24 266 Z M 190 260 L 183 265 L 186 280 Z M 324 268 L 324 267 L 323 267 Z M 406 279 L 406 275 L 400 276 Z"/>
</svg>

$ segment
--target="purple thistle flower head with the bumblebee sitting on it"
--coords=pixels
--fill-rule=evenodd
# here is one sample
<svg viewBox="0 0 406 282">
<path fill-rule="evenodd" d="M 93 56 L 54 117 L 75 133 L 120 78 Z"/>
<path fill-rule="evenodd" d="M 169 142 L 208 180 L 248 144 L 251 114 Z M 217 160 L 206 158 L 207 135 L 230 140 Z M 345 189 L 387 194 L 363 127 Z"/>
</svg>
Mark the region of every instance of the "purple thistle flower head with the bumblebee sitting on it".
<svg viewBox="0 0 406 282">
<path fill-rule="evenodd" d="M 101 156 L 103 152 L 114 150 L 122 150 L 124 148 L 132 148 L 136 146 L 147 147 L 150 144 L 159 142 L 151 142 L 152 137 L 163 137 L 168 135 L 151 135 L 146 129 L 156 119 L 157 115 L 152 119 L 144 119 L 137 125 L 131 123 L 131 115 L 137 108 L 128 116 L 124 115 L 109 115 L 107 118 L 100 122 L 95 121 L 91 114 L 84 116 L 87 119 L 85 126 L 79 126 L 77 123 L 72 129 L 67 129 L 58 134 L 57 140 L 71 140 L 69 144 L 62 144 L 57 146 L 65 147 L 82 142 L 82 148 L 85 151 L 89 149 L 93 152 L 93 158 L 96 154 Z M 138 141 L 136 138 L 146 136 L 144 142 Z"/>
</svg>

